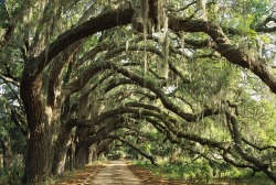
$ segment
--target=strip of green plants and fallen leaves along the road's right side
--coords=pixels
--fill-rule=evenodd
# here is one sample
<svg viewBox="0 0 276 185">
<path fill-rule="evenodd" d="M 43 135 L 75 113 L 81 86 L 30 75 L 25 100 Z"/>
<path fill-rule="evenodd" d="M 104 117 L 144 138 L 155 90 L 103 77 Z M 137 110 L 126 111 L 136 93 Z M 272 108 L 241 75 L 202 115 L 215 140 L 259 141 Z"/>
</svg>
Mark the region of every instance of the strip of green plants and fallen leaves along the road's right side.
<svg viewBox="0 0 276 185">
<path fill-rule="evenodd" d="M 232 185 L 273 185 L 264 174 L 252 176 L 248 170 L 238 170 L 230 165 L 214 170 L 204 162 L 168 164 L 161 163 L 158 166 L 147 162 L 134 162 L 130 167 L 136 175 L 151 184 L 232 184 Z M 149 173 L 151 175 L 149 175 Z M 148 176 L 148 178 L 147 178 Z"/>
</svg>

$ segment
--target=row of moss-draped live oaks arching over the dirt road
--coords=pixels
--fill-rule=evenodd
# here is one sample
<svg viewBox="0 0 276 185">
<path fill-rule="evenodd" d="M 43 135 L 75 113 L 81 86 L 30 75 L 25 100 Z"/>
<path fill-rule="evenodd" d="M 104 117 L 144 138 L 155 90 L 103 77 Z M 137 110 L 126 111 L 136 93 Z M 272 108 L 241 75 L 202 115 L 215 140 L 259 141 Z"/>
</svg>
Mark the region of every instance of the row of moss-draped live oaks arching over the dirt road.
<svg viewBox="0 0 276 185">
<path fill-rule="evenodd" d="M 15 107 L 28 124 L 9 110 L 28 138 L 24 184 L 63 173 L 67 156 L 82 166 L 92 145 L 99 155 L 114 141 L 156 164 L 139 145 L 161 139 L 146 134 L 145 123 L 163 142 L 276 182 L 275 161 L 266 155 L 275 153 L 276 140 L 269 102 L 276 4 L 208 1 L 204 19 L 197 4 L 1 2 L 1 83 L 17 96 L 20 89 Z"/>
</svg>

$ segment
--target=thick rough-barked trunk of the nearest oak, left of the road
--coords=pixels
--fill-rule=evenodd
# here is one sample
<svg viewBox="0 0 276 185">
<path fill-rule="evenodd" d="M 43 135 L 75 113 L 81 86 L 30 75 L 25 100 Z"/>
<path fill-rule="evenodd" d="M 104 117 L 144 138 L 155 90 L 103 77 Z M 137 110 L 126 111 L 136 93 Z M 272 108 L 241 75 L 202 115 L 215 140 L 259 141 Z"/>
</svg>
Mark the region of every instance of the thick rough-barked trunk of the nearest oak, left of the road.
<svg viewBox="0 0 276 185">
<path fill-rule="evenodd" d="M 40 184 L 50 174 L 52 133 L 45 122 L 45 111 L 40 97 L 41 76 L 30 77 L 28 70 L 24 69 L 20 87 L 30 129 L 23 184 Z"/>
</svg>

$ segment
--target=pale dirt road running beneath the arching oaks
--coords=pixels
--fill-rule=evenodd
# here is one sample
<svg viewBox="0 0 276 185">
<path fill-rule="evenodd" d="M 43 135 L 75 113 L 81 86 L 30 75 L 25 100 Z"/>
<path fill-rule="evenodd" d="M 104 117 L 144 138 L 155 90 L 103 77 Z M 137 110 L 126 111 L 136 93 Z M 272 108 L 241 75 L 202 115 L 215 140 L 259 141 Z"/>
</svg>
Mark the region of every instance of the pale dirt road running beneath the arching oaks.
<svg viewBox="0 0 276 185">
<path fill-rule="evenodd" d="M 112 161 L 92 181 L 93 185 L 141 185 L 124 161 Z"/>
</svg>

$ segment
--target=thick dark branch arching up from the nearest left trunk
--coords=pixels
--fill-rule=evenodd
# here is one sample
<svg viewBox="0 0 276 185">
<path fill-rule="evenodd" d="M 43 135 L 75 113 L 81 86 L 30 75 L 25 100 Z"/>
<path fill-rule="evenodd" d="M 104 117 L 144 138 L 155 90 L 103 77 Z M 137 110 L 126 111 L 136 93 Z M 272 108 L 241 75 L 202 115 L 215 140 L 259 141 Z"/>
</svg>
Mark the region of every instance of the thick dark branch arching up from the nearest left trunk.
<svg viewBox="0 0 276 185">
<path fill-rule="evenodd" d="M 70 31 L 60 35 L 50 46 L 38 57 L 30 61 L 29 70 L 33 75 L 40 74 L 44 67 L 64 48 L 74 42 L 95 34 L 103 30 L 108 30 L 118 25 L 131 22 L 135 11 L 132 9 L 117 10 L 93 18 Z"/>
</svg>

